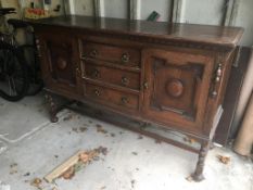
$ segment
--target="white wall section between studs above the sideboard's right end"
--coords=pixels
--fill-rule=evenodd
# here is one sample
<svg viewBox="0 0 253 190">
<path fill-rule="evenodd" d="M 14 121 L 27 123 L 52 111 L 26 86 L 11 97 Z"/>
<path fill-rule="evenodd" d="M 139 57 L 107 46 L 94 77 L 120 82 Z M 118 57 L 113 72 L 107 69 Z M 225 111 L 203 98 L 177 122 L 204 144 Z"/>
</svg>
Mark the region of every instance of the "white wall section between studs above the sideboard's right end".
<svg viewBox="0 0 253 190">
<path fill-rule="evenodd" d="M 220 25 L 225 0 L 184 0 L 181 23 Z"/>
</svg>

